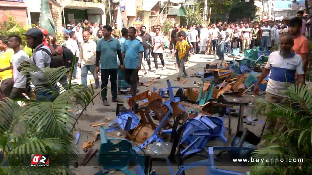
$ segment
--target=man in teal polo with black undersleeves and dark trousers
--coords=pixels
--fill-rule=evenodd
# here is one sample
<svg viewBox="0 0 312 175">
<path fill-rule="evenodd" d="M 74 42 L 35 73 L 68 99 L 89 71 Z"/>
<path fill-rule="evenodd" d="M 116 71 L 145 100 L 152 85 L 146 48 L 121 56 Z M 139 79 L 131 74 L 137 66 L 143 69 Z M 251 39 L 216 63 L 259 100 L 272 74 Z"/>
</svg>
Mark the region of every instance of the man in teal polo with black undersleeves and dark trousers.
<svg viewBox="0 0 312 175">
<path fill-rule="evenodd" d="M 117 55 L 120 61 L 120 67 L 124 67 L 119 41 L 111 37 L 112 27 L 109 25 L 103 26 L 103 38 L 98 41 L 96 44 L 96 62 L 95 62 L 95 71 L 99 71 L 99 62 L 101 62 L 101 79 L 102 90 L 101 95 L 103 99 L 104 106 L 110 106 L 107 102 L 106 93 L 107 93 L 107 83 L 108 78 L 110 77 L 110 87 L 113 96 L 113 102 L 122 103 L 123 101 L 117 98 L 117 74 L 118 74 L 118 64 L 117 64 Z"/>
</svg>

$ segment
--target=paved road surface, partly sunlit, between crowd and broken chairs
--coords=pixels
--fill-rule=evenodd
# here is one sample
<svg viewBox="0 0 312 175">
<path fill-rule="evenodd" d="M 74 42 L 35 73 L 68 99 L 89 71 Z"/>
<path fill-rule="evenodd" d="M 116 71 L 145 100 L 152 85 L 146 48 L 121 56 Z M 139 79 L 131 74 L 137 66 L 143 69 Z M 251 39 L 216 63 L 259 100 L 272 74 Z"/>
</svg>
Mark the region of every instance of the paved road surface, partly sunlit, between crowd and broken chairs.
<svg viewBox="0 0 312 175">
<path fill-rule="evenodd" d="M 168 52 L 168 50 L 167 50 Z M 175 58 L 171 59 L 171 53 L 164 53 L 164 60 L 165 60 L 165 64 L 166 64 L 166 70 L 159 70 L 157 73 L 153 73 L 153 72 L 149 72 L 149 74 L 147 76 L 143 77 L 144 72 L 143 71 L 139 71 L 139 77 L 140 77 L 140 81 L 143 82 L 144 84 L 149 83 L 149 80 L 151 79 L 151 77 L 159 77 L 159 75 L 161 76 L 161 78 L 158 80 L 159 83 L 155 83 L 149 87 L 143 87 L 143 86 L 139 86 L 139 90 L 140 92 L 144 92 L 146 90 L 149 90 L 150 92 L 153 90 L 153 86 L 156 88 L 165 88 L 167 87 L 166 84 L 166 80 L 169 79 L 171 82 L 171 86 L 184 86 L 184 87 L 193 87 L 195 85 L 193 85 L 194 82 L 201 82 L 200 78 L 188 78 L 188 81 L 185 82 L 185 84 L 180 83 L 179 81 L 176 81 L 177 78 L 177 74 L 178 74 L 178 70 L 176 70 L 174 63 L 175 63 Z M 226 60 L 232 60 L 232 58 L 229 58 Z M 152 69 L 154 69 L 154 62 L 153 62 L 153 58 L 151 58 L 152 61 Z M 208 62 L 220 62 L 218 60 L 215 60 L 215 57 L 212 55 L 201 55 L 201 54 L 196 54 L 196 55 L 192 55 L 191 58 L 189 58 L 189 64 L 186 67 L 186 71 L 188 73 L 188 75 L 191 75 L 192 73 L 200 73 L 203 72 L 203 67 L 205 67 L 205 65 Z M 162 68 L 160 61 L 158 61 L 159 64 L 159 68 Z M 197 68 L 200 67 L 200 68 Z M 77 77 L 80 77 L 81 72 L 80 69 L 78 68 L 78 73 L 77 73 Z M 93 75 L 91 73 L 88 74 L 88 85 L 90 84 L 89 82 L 89 78 L 93 79 Z M 78 82 L 81 83 L 81 79 L 78 78 L 76 80 L 74 80 L 74 82 Z M 110 81 L 109 81 L 110 82 Z M 94 86 L 94 81 L 91 80 L 91 83 L 93 83 Z M 108 84 L 108 87 L 110 87 L 110 83 Z M 97 92 L 99 90 L 95 90 L 95 92 Z M 174 91 L 175 93 L 175 91 Z M 249 92 L 250 93 L 250 92 Z M 256 100 L 256 98 L 262 98 L 262 97 L 255 97 L 252 95 L 252 93 L 250 93 L 251 95 L 245 94 L 242 97 L 227 97 L 227 99 L 229 101 L 241 101 L 241 102 L 254 102 Z M 102 123 L 105 122 L 106 127 L 108 127 L 108 124 L 113 121 L 116 118 L 116 103 L 113 103 L 111 100 L 111 92 L 110 90 L 108 90 L 107 92 L 107 98 L 108 101 L 110 102 L 110 106 L 106 107 L 103 106 L 100 97 L 96 97 L 94 100 L 94 105 L 89 105 L 87 108 L 86 113 L 84 113 L 79 121 L 78 121 L 78 125 L 76 126 L 77 129 L 83 130 L 82 135 L 80 136 L 79 142 L 76 145 L 76 148 L 78 149 L 77 153 L 78 154 L 84 154 L 83 149 L 82 149 L 82 145 L 84 143 L 84 141 L 90 141 L 93 139 L 92 135 L 90 135 L 90 133 L 95 133 L 96 130 L 99 129 L 99 127 L 90 127 L 91 124 L 94 123 Z M 119 96 L 121 99 L 122 95 Z M 124 105 L 126 107 L 128 107 L 127 103 L 126 103 L 126 99 L 123 99 L 124 101 Z M 238 109 L 238 106 L 234 106 L 235 109 Z M 246 109 L 247 108 L 247 109 Z M 73 112 L 76 112 L 77 109 L 75 109 Z M 244 114 L 248 117 L 251 117 L 251 107 L 245 107 L 244 110 Z M 107 119 L 110 119 L 109 121 Z M 259 121 L 265 121 L 264 117 L 260 117 Z M 228 127 L 228 118 L 225 119 L 225 125 Z M 232 117 L 231 120 L 231 125 L 232 125 L 232 132 L 236 131 L 236 126 L 237 126 L 237 118 L 236 117 Z M 256 122 L 255 126 L 251 126 L 251 125 L 246 125 L 244 123 L 245 127 L 248 127 L 249 130 L 251 130 L 252 132 L 254 132 L 256 135 L 260 135 L 263 124 Z M 114 132 L 112 132 L 112 135 L 116 135 L 116 133 L 120 131 L 120 130 L 116 130 Z M 89 134 L 88 134 L 89 133 Z M 100 140 L 97 140 L 93 146 L 93 149 L 99 149 L 99 144 L 100 144 Z M 211 141 L 208 142 L 207 146 L 222 146 L 223 143 L 216 140 L 216 141 Z M 185 162 L 191 162 L 191 161 L 196 161 L 196 160 L 200 160 L 203 158 L 200 157 L 196 157 L 193 156 L 191 158 L 188 158 Z M 80 160 L 82 161 L 82 160 Z M 169 169 L 166 167 L 166 163 L 165 162 L 157 162 L 154 163 L 155 165 L 157 164 L 157 167 L 153 166 L 153 170 L 156 170 L 156 172 L 158 173 L 158 175 L 168 175 L 169 174 Z M 95 155 L 90 162 L 87 164 L 87 166 L 81 166 L 78 168 L 75 168 L 75 171 L 79 172 L 78 174 L 84 174 L 84 175 L 91 175 L 91 174 L 95 174 L 96 172 L 102 170 L 102 167 L 97 166 L 97 155 Z M 173 164 L 174 165 L 174 164 Z M 174 170 L 177 170 L 177 167 L 173 167 Z M 225 167 L 223 167 L 225 168 Z M 228 169 L 231 170 L 236 170 L 236 171 L 242 171 L 242 172 L 246 172 L 246 171 L 250 171 L 251 168 L 250 167 L 227 167 Z M 186 174 L 191 174 L 193 172 L 196 172 L 197 174 L 206 174 L 206 168 L 205 167 L 201 167 L 201 168 L 193 168 L 191 170 L 186 171 Z M 123 174 L 122 172 L 116 171 L 115 174 Z"/>
</svg>

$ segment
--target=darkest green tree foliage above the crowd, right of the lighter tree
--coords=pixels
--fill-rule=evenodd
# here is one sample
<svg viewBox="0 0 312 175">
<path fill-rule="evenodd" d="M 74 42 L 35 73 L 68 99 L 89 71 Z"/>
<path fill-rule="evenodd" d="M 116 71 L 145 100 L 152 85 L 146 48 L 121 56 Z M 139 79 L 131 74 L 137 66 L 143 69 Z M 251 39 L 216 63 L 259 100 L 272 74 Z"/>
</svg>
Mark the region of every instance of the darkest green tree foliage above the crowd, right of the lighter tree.
<svg viewBox="0 0 312 175">
<path fill-rule="evenodd" d="M 256 15 L 256 10 L 255 2 L 253 0 L 249 2 L 233 1 L 233 7 L 229 13 L 229 21 L 242 21 L 243 18 L 247 18 L 247 20 L 253 20 Z"/>
</svg>

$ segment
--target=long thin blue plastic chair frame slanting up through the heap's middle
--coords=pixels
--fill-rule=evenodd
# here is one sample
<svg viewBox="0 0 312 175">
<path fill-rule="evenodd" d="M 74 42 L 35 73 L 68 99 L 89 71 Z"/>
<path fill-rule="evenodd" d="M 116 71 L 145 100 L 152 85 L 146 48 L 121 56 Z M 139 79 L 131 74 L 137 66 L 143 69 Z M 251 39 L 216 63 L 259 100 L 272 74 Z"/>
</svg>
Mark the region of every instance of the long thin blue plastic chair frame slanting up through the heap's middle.
<svg viewBox="0 0 312 175">
<path fill-rule="evenodd" d="M 135 150 L 138 152 L 139 148 L 143 149 L 144 147 L 146 147 L 148 144 L 150 144 L 151 142 L 163 142 L 163 140 L 158 137 L 157 133 L 158 131 L 162 128 L 163 124 L 165 123 L 165 121 L 167 121 L 168 117 L 170 116 L 170 114 L 172 113 L 173 109 L 170 105 L 171 102 L 175 101 L 174 95 L 173 95 L 173 91 L 171 88 L 171 84 L 169 82 L 169 80 L 167 80 L 167 86 L 168 86 L 168 91 L 169 91 L 169 96 L 170 98 L 166 101 L 163 102 L 164 105 L 166 105 L 169 109 L 169 111 L 167 112 L 167 114 L 165 115 L 165 117 L 163 118 L 163 120 L 159 123 L 159 125 L 157 126 L 157 128 L 154 130 L 153 134 L 149 137 L 148 140 L 146 140 L 144 143 L 140 144 Z"/>
</svg>

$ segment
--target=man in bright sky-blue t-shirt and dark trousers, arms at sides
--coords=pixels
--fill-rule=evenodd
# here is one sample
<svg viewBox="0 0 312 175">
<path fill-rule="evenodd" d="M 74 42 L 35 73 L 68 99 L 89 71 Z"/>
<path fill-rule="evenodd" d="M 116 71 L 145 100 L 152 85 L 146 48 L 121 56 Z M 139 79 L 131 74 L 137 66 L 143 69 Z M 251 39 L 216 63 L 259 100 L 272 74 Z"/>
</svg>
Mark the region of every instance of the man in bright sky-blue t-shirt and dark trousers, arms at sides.
<svg viewBox="0 0 312 175">
<path fill-rule="evenodd" d="M 134 27 L 129 27 L 129 39 L 124 41 L 121 47 L 122 58 L 125 64 L 125 80 L 131 85 L 132 97 L 136 95 L 138 71 L 141 69 L 141 62 L 144 48 L 142 42 L 135 38 Z"/>
</svg>

